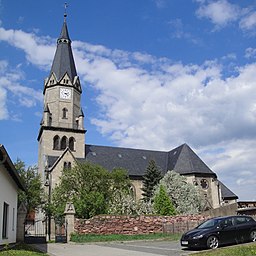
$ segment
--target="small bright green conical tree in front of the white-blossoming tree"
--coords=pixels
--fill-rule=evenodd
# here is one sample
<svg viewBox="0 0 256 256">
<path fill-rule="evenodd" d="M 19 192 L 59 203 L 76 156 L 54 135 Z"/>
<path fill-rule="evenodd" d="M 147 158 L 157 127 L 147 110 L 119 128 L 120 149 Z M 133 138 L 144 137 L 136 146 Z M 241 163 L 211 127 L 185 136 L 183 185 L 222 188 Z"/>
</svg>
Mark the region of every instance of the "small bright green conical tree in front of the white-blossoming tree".
<svg viewBox="0 0 256 256">
<path fill-rule="evenodd" d="M 153 206 L 157 214 L 165 216 L 176 214 L 172 201 L 162 184 L 159 187 L 159 192 L 155 194 Z"/>
</svg>

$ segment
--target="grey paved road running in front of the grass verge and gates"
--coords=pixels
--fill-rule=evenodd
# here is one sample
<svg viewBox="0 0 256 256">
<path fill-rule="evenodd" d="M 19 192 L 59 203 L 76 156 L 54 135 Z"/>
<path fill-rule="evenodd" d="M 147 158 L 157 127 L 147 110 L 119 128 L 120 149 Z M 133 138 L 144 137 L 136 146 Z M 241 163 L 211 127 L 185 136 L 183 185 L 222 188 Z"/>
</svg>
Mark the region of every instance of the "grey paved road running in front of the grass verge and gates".
<svg viewBox="0 0 256 256">
<path fill-rule="evenodd" d="M 195 251 L 182 249 L 179 242 L 173 241 L 133 241 L 91 244 L 36 245 L 51 256 L 186 256 Z"/>
</svg>

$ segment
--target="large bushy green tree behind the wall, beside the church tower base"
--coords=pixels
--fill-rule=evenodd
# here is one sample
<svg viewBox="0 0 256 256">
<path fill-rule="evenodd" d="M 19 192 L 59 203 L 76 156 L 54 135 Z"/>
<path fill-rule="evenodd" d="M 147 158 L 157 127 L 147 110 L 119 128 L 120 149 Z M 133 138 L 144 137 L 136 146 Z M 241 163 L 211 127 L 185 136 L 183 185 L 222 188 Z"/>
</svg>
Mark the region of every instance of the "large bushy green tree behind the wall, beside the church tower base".
<svg viewBox="0 0 256 256">
<path fill-rule="evenodd" d="M 64 169 L 60 183 L 52 193 L 51 214 L 60 217 L 67 202 L 73 202 L 76 215 L 90 218 L 107 213 L 114 191 L 128 189 L 130 181 L 122 169 L 108 172 L 99 165 L 88 162 L 72 169 Z"/>
</svg>

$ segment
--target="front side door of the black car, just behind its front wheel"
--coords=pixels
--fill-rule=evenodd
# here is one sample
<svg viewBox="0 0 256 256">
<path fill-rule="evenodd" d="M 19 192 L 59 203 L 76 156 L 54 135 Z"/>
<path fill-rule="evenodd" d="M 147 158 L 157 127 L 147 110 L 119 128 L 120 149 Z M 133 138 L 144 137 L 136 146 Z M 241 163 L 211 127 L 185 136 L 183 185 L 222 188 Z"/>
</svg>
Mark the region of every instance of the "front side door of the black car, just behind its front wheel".
<svg viewBox="0 0 256 256">
<path fill-rule="evenodd" d="M 228 217 L 220 223 L 219 238 L 221 244 L 234 243 L 236 241 L 236 227 L 234 218 Z"/>
</svg>

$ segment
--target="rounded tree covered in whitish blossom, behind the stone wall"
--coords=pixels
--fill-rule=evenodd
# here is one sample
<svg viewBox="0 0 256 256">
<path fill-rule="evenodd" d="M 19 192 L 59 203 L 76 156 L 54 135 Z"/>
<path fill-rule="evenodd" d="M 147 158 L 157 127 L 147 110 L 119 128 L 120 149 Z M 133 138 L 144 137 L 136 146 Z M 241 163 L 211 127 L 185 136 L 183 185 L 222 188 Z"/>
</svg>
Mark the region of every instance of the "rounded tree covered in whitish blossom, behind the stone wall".
<svg viewBox="0 0 256 256">
<path fill-rule="evenodd" d="M 199 188 L 188 183 L 186 177 L 168 171 L 157 186 L 156 193 L 159 192 L 160 185 L 166 188 L 178 214 L 196 214 L 201 211 L 204 199 Z"/>
</svg>

